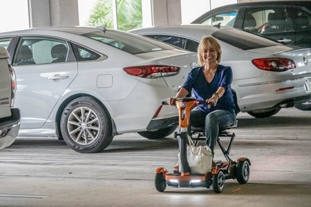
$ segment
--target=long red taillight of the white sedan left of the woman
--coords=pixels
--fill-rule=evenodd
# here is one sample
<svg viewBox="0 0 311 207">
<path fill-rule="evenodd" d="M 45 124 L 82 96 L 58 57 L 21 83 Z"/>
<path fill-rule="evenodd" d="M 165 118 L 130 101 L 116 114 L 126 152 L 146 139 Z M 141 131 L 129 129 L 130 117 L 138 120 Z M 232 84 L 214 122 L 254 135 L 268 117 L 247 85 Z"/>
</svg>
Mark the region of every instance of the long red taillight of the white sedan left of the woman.
<svg viewBox="0 0 311 207">
<path fill-rule="evenodd" d="M 131 66 L 123 70 L 135 77 L 154 79 L 178 74 L 180 68 L 177 66 Z"/>
</svg>

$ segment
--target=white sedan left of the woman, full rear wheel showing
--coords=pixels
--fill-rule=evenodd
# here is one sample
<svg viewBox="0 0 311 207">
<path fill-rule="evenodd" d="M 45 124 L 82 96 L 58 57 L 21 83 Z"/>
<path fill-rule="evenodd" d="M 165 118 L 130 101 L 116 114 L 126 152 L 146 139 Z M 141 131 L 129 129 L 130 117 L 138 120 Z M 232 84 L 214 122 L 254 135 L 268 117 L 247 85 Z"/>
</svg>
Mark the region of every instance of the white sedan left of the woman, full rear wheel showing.
<svg viewBox="0 0 311 207">
<path fill-rule="evenodd" d="M 17 76 L 19 136 L 64 139 L 77 152 L 99 152 L 113 136 L 158 139 L 178 113 L 176 95 L 194 52 L 106 28 L 36 28 L 0 34 Z"/>
</svg>

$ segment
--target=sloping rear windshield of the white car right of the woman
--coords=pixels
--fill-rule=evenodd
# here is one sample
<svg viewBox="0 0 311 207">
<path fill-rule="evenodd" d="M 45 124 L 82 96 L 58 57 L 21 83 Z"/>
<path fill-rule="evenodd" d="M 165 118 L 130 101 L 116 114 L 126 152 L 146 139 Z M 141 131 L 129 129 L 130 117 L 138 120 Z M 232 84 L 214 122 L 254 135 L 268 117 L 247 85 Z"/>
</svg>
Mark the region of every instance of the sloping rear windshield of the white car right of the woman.
<svg viewBox="0 0 311 207">
<path fill-rule="evenodd" d="M 211 35 L 220 41 L 224 41 L 225 43 L 240 48 L 241 50 L 251 50 L 256 48 L 282 45 L 276 41 L 272 41 L 270 39 L 260 37 L 256 34 L 251 34 L 241 30 L 219 30 Z"/>
</svg>

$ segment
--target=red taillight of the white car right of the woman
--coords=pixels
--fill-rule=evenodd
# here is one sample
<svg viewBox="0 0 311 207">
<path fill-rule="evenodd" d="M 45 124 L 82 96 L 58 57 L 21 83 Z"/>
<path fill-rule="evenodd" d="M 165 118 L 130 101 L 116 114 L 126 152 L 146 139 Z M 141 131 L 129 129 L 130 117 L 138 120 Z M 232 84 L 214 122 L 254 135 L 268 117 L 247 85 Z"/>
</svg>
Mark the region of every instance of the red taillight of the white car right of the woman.
<svg viewBox="0 0 311 207">
<path fill-rule="evenodd" d="M 260 58 L 253 59 L 252 63 L 261 70 L 270 70 L 276 72 L 282 72 L 296 68 L 295 62 L 288 58 Z"/>
</svg>

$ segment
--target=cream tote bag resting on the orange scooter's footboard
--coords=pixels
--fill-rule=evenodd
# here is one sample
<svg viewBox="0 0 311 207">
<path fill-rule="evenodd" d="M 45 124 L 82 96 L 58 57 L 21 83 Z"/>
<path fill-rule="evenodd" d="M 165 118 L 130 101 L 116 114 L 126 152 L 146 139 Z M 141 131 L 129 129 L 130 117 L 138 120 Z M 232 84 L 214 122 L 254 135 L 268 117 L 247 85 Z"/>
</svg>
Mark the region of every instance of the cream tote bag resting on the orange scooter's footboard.
<svg viewBox="0 0 311 207">
<path fill-rule="evenodd" d="M 191 169 L 191 174 L 205 175 L 211 172 L 213 155 L 208 146 L 194 146 L 194 142 L 188 136 L 189 145 L 187 146 L 187 159 Z M 180 163 L 180 152 L 178 152 Z"/>
</svg>

